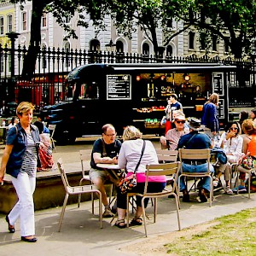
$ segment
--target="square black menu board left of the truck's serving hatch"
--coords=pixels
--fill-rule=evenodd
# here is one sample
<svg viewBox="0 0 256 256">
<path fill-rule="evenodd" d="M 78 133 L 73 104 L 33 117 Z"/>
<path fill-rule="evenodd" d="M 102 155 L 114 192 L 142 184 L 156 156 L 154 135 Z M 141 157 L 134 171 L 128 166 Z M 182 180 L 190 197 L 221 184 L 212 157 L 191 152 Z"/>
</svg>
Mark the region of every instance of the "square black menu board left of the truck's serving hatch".
<svg viewBox="0 0 256 256">
<path fill-rule="evenodd" d="M 107 75 L 107 100 L 131 100 L 131 75 Z"/>
</svg>

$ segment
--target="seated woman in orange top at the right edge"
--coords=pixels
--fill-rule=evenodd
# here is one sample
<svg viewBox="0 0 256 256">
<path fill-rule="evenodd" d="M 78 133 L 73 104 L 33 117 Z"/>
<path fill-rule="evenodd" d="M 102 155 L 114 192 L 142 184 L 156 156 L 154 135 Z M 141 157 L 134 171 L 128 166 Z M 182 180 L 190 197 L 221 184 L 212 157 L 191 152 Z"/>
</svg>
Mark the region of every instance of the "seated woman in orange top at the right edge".
<svg viewBox="0 0 256 256">
<path fill-rule="evenodd" d="M 252 119 L 246 119 L 241 125 L 242 131 L 245 133 L 243 137 L 242 157 L 238 160 L 239 166 L 237 170 L 240 172 L 240 185 L 233 189 L 234 192 L 247 192 L 245 187 L 246 173 L 248 170 L 256 167 L 256 125 Z M 247 159 L 247 163 L 243 160 Z"/>
</svg>

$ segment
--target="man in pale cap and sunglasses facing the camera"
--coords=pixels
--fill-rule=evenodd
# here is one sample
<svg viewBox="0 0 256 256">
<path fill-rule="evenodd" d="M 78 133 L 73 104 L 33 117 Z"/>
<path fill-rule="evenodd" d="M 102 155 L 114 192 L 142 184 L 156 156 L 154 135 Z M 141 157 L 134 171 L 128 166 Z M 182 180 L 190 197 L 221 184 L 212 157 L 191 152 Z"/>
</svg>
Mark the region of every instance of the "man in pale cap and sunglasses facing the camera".
<svg viewBox="0 0 256 256">
<path fill-rule="evenodd" d="M 179 138 L 184 134 L 189 133 L 189 128 L 185 126 L 185 115 L 182 111 L 177 110 L 173 113 L 172 122 L 175 124 L 176 128 L 172 128 L 171 130 L 166 132 L 166 137 L 160 137 L 161 148 L 168 147 L 169 149 L 177 149 L 177 143 Z"/>
</svg>

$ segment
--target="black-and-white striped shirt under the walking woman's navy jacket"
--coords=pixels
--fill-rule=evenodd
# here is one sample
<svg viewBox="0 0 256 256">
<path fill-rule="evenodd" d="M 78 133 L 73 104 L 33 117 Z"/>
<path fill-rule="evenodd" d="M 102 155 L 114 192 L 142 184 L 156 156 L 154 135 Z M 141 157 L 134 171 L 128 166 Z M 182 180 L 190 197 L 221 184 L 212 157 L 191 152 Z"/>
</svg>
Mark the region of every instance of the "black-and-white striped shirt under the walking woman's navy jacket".
<svg viewBox="0 0 256 256">
<path fill-rule="evenodd" d="M 27 136 L 27 147 L 24 154 L 21 171 L 26 172 L 29 177 L 36 177 L 37 164 L 38 164 L 38 155 L 36 143 L 32 138 L 32 134 L 26 134 Z"/>
</svg>

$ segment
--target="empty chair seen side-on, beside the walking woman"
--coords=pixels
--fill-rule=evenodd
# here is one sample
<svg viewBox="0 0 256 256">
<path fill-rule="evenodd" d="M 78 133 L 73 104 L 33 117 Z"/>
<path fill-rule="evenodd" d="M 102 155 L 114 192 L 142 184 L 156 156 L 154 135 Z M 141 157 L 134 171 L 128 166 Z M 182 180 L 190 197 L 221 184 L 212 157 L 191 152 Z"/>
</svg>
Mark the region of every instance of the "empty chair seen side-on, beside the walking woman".
<svg viewBox="0 0 256 256">
<path fill-rule="evenodd" d="M 86 193 L 97 193 L 99 195 L 99 221 L 100 221 L 100 227 L 102 229 L 102 193 L 96 189 L 96 186 L 90 184 L 90 185 L 79 185 L 79 186 L 70 186 L 68 183 L 68 179 L 67 179 L 67 174 L 65 172 L 65 168 L 63 165 L 63 161 L 61 158 L 59 158 L 59 160 L 57 160 L 57 166 L 58 169 L 61 173 L 61 180 L 62 183 L 64 185 L 65 191 L 66 191 L 66 195 L 63 201 L 63 206 L 62 206 L 62 210 L 61 210 L 61 218 L 59 221 L 59 229 L 58 231 L 61 231 L 61 224 L 62 224 L 62 220 L 64 217 L 64 213 L 65 213 L 65 209 L 67 206 L 67 200 L 69 195 L 79 195 L 79 194 L 86 194 Z"/>
</svg>

